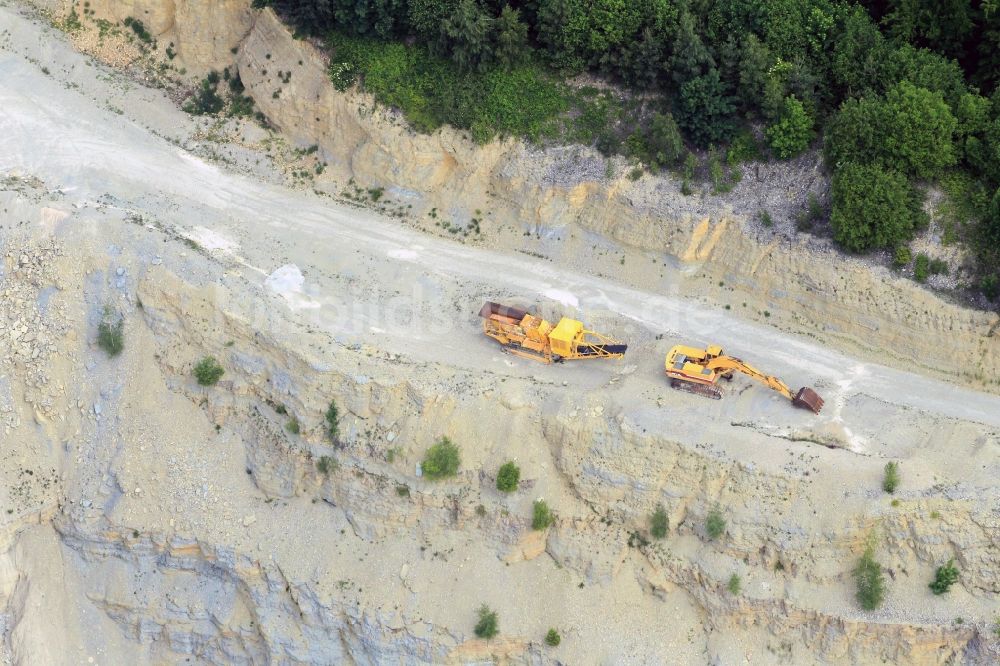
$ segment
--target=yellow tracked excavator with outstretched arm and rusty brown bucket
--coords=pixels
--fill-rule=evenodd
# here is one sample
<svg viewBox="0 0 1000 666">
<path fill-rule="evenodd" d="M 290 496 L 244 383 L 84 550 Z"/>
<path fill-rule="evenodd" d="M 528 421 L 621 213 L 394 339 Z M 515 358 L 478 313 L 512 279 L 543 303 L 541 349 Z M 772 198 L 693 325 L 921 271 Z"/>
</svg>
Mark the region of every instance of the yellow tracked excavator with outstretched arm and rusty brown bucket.
<svg viewBox="0 0 1000 666">
<path fill-rule="evenodd" d="M 815 414 L 823 409 L 823 398 L 813 389 L 804 386 L 797 393 L 792 393 L 785 382 L 761 372 L 742 359 L 726 356 L 718 345 L 711 345 L 706 349 L 677 345 L 667 354 L 666 370 L 671 387 L 715 400 L 722 397 L 719 379 L 729 381 L 734 372 L 741 372 L 785 396 L 796 407 L 808 409 Z"/>
</svg>

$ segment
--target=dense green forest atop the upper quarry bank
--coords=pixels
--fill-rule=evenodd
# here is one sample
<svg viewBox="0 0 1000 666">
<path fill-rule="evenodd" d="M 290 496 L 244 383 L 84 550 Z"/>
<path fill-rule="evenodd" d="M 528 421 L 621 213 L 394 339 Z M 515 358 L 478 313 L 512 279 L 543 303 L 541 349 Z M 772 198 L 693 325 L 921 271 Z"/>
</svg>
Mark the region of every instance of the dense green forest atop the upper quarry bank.
<svg viewBox="0 0 1000 666">
<path fill-rule="evenodd" d="M 335 85 L 421 131 L 590 143 L 685 188 L 693 150 L 721 189 L 723 162 L 822 146 L 835 240 L 900 266 L 936 184 L 944 242 L 967 243 L 970 286 L 1000 296 L 998 0 L 257 2 L 326 40 Z"/>
</svg>

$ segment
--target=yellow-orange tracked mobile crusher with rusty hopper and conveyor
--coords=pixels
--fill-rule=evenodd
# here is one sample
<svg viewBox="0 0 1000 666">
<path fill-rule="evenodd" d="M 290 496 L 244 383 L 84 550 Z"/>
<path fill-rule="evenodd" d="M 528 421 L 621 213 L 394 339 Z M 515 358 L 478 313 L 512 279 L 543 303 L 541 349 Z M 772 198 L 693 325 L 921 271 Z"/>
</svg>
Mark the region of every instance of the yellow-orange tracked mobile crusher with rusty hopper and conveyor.
<svg viewBox="0 0 1000 666">
<path fill-rule="evenodd" d="M 487 301 L 479 311 L 483 332 L 499 342 L 508 354 L 542 363 L 561 363 L 585 358 L 621 358 L 628 345 L 583 323 L 563 317 L 553 326 L 525 310 Z"/>
</svg>

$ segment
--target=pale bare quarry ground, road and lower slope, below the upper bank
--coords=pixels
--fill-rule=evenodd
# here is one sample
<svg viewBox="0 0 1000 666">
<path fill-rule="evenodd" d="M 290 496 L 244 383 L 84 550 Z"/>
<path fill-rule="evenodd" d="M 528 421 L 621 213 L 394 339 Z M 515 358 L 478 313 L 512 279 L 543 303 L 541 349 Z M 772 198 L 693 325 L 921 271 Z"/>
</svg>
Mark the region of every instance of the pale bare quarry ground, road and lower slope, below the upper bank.
<svg viewBox="0 0 1000 666">
<path fill-rule="evenodd" d="M 613 275 L 597 257 L 458 244 L 285 187 L 260 155 L 241 172 L 206 162 L 161 92 L 8 7 L 0 33 L 7 660 L 995 656 L 1000 397 L 681 298 L 670 266 L 643 291 L 594 277 Z M 578 316 L 628 356 L 504 356 L 478 330 L 486 299 Z M 126 314 L 113 360 L 93 344 L 107 304 Z M 718 402 L 671 392 L 662 359 L 680 341 L 738 350 L 827 407 L 740 378 Z M 227 374 L 202 389 L 190 368 L 209 353 Z M 441 434 L 464 471 L 435 486 L 415 466 Z M 330 478 L 320 455 L 340 463 Z M 511 458 L 528 488 L 503 497 L 492 474 Z M 536 497 L 559 514 L 547 534 L 525 525 Z M 626 545 L 657 503 L 670 537 Z M 722 543 L 701 527 L 714 505 Z M 866 614 L 848 572 L 872 532 L 892 580 Z M 932 597 L 950 556 L 963 578 Z M 481 603 L 500 612 L 491 644 L 472 637 Z M 808 639 L 830 626 L 829 644 Z"/>
</svg>

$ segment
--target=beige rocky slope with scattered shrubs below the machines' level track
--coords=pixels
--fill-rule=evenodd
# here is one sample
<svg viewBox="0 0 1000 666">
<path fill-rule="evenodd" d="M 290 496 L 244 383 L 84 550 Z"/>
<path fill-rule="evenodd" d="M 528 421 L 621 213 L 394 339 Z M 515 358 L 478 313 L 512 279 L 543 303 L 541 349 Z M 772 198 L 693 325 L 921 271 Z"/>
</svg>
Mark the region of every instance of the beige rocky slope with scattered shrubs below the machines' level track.
<svg viewBox="0 0 1000 666">
<path fill-rule="evenodd" d="M 55 312 L 81 296 L 90 304 L 58 338 L 65 372 L 76 378 L 67 402 L 85 408 L 67 409 L 67 422 L 50 430 L 68 451 L 28 454 L 32 468 L 51 465 L 53 478 L 25 499 L 15 529 L 33 536 L 17 538 L 12 550 L 50 538 L 38 531 L 54 527 L 58 575 L 114 623 L 124 638 L 120 655 L 548 663 L 596 654 L 620 662 L 657 661 L 676 642 L 671 653 L 692 663 L 728 663 L 738 653 L 756 663 L 992 658 L 988 609 L 1000 592 L 1000 535 L 984 495 L 996 471 L 997 432 L 890 411 L 890 420 L 926 433 L 935 449 L 971 458 L 942 478 L 940 453 L 920 447 L 899 455 L 907 483 L 890 503 L 873 496 L 878 458 L 781 446 L 753 430 L 722 448 L 713 445 L 716 435 L 732 431 L 722 424 L 709 426 L 705 442 L 663 430 L 658 420 L 676 407 L 665 414 L 627 407 L 645 392 L 635 379 L 578 396 L 516 375 L 499 388 L 492 375 L 374 348 L 309 351 L 308 324 L 280 309 L 262 313 L 253 286 L 224 266 L 194 256 L 182 279 L 142 251 L 109 261 L 106 234 L 123 248 L 163 247 L 158 232 L 115 217 L 99 216 L 105 231 L 96 243 L 67 228 L 72 218 L 57 227 L 59 243 L 36 248 L 11 239 L 27 261 L 5 275 L 46 266 L 59 276 Z M 72 261 L 57 258 L 64 251 L 53 256 L 62 246 L 74 248 Z M 168 241 L 164 255 L 179 247 Z M 35 302 L 50 286 L 42 280 L 38 292 L 18 293 Z M 128 313 L 128 351 L 113 361 L 83 342 L 109 298 Z M 66 344 L 69 331 L 76 345 Z M 208 389 L 190 375 L 205 353 L 226 368 Z M 13 367 L 15 379 L 28 371 Z M 322 419 L 331 398 L 345 415 L 335 446 Z M 290 417 L 299 434 L 284 427 Z M 31 430 L 23 423 L 11 430 L 22 455 L 31 451 Z M 440 434 L 462 444 L 464 471 L 434 484 L 415 477 L 413 466 Z M 745 462 L 740 449 L 762 446 L 771 453 Z M 323 455 L 337 461 L 329 474 L 317 468 Z M 508 457 L 529 477 L 512 497 L 492 488 L 492 470 Z M 986 469 L 977 473 L 980 460 Z M 845 465 L 864 468 L 870 485 L 844 483 Z M 545 532 L 530 528 L 536 496 L 557 508 Z M 657 504 L 667 509 L 670 536 L 648 543 L 646 521 Z M 712 507 L 727 521 L 717 541 L 703 527 Z M 866 616 L 853 609 L 845 560 L 872 533 L 894 582 L 890 607 Z M 961 590 L 927 614 L 917 601 L 928 594 L 926 578 L 951 556 Z M 23 556 L 8 557 L 28 587 L 19 593 L 14 585 L 7 597 L 10 626 L 21 628 L 35 577 L 46 574 L 18 563 Z M 477 570 L 511 587 L 484 586 Z M 745 581 L 739 597 L 726 591 L 734 572 Z M 627 607 L 602 616 L 612 597 L 628 599 Z M 483 598 L 501 611 L 503 640 L 471 637 L 468 616 Z M 956 607 L 969 614 L 966 623 L 952 621 Z M 665 621 L 673 627 L 667 635 Z M 546 622 L 566 634 L 558 651 L 539 642 Z M 609 623 L 610 640 L 602 637 Z M 72 639 L 64 648 L 75 647 Z M 29 638 L 12 633 L 8 641 L 15 660 L 33 661 Z"/>
</svg>

